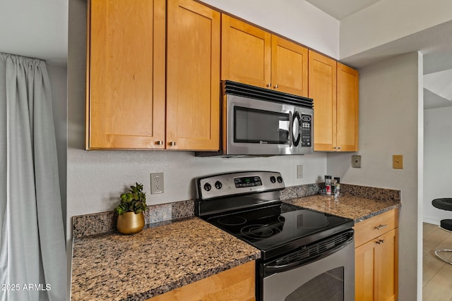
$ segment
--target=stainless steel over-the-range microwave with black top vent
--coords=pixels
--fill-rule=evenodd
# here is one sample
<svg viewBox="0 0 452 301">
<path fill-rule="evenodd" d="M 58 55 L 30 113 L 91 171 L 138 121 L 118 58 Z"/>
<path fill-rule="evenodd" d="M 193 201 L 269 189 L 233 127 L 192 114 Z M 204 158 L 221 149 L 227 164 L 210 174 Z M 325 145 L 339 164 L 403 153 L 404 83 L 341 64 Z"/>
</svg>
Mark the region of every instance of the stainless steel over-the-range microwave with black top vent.
<svg viewBox="0 0 452 301">
<path fill-rule="evenodd" d="M 313 100 L 225 80 L 220 152 L 197 155 L 273 156 L 314 152 Z"/>
</svg>

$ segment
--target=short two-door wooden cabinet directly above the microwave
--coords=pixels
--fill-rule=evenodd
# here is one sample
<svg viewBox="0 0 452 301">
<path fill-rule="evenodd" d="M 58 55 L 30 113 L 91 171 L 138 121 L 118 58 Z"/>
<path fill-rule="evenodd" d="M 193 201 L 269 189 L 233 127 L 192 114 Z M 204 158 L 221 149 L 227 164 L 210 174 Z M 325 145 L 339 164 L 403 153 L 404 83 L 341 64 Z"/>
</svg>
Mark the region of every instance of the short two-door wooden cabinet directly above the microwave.
<svg viewBox="0 0 452 301">
<path fill-rule="evenodd" d="M 222 15 L 221 79 L 307 96 L 308 51 Z"/>
</svg>

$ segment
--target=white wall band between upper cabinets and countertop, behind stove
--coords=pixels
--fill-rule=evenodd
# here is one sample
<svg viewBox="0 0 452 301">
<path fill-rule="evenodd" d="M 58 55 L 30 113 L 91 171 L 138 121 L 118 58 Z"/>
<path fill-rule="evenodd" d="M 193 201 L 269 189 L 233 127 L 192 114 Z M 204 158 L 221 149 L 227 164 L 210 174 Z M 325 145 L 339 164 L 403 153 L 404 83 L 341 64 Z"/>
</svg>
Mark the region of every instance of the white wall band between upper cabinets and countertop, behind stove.
<svg viewBox="0 0 452 301">
<path fill-rule="evenodd" d="M 268 170 L 282 173 L 286 186 L 323 181 L 326 154 L 273 156 L 268 158 L 201 158 L 193 152 L 172 151 L 85 151 L 68 149 L 68 218 L 110 211 L 119 195 L 135 182 L 143 183 L 148 204 L 194 199 L 194 179 L 213 173 Z M 297 164 L 303 178 L 297 179 Z M 150 194 L 150 173 L 164 173 L 165 192 Z M 69 227 L 70 229 L 71 227 Z"/>
</svg>

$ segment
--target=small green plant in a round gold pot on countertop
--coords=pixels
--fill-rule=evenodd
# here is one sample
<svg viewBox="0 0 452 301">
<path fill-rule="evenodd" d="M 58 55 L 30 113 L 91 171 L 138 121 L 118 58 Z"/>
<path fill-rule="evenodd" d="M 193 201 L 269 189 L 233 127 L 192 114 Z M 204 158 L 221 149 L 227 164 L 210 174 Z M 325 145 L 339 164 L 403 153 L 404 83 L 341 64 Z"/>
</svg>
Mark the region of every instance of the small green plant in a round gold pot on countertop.
<svg viewBox="0 0 452 301">
<path fill-rule="evenodd" d="M 146 205 L 146 194 L 143 185 L 135 183 L 129 192 L 121 194 L 121 203 L 114 209 L 118 214 L 117 229 L 119 233 L 133 234 L 143 230 L 144 211 Z"/>
</svg>

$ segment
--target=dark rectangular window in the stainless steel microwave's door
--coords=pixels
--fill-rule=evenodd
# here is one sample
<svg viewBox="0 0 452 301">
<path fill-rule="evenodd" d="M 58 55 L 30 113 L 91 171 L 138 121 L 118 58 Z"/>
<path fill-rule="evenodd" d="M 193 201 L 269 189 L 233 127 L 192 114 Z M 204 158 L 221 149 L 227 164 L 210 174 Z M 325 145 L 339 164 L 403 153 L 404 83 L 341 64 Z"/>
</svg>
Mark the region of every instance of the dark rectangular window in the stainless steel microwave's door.
<svg viewBox="0 0 452 301">
<path fill-rule="evenodd" d="M 234 142 L 289 144 L 288 113 L 234 106 Z"/>
</svg>

